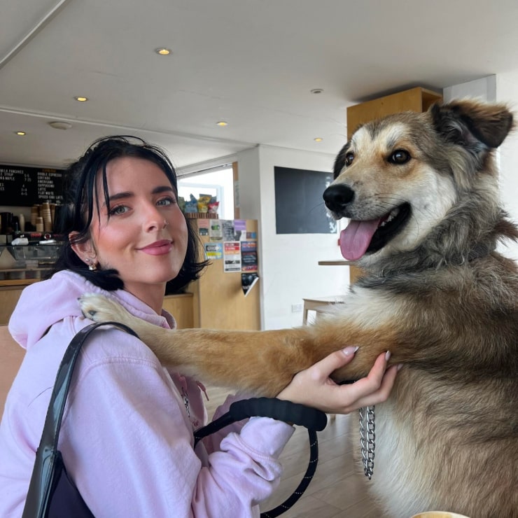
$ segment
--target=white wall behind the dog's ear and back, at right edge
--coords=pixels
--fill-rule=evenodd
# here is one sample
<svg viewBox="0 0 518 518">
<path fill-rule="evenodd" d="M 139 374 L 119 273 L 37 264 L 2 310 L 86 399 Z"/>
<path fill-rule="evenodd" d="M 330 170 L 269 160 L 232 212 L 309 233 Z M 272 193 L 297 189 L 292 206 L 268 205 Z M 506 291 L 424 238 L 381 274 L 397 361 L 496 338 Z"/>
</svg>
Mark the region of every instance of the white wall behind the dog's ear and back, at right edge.
<svg viewBox="0 0 518 518">
<path fill-rule="evenodd" d="M 444 101 L 477 97 L 488 102 L 503 102 L 518 113 L 518 71 L 487 76 L 444 88 Z M 518 115 L 517 115 L 518 118 Z M 510 218 L 518 223 L 518 132 L 512 132 L 498 149 L 500 196 Z M 518 260 L 518 243 L 500 244 L 498 250 Z"/>
</svg>

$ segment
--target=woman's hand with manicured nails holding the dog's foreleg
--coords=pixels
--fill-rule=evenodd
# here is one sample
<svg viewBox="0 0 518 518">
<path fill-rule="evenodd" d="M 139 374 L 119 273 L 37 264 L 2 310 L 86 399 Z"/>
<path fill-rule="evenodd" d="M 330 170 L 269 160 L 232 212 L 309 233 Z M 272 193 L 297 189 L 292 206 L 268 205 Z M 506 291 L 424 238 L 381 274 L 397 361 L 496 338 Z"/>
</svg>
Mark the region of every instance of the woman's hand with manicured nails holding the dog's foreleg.
<svg viewBox="0 0 518 518">
<path fill-rule="evenodd" d="M 399 370 L 398 365 L 386 368 L 390 353 L 380 354 L 367 377 L 353 384 L 337 385 L 330 379 L 331 372 L 349 363 L 356 350 L 353 346 L 346 347 L 298 372 L 277 398 L 302 403 L 328 414 L 349 414 L 358 408 L 385 401 Z"/>
</svg>

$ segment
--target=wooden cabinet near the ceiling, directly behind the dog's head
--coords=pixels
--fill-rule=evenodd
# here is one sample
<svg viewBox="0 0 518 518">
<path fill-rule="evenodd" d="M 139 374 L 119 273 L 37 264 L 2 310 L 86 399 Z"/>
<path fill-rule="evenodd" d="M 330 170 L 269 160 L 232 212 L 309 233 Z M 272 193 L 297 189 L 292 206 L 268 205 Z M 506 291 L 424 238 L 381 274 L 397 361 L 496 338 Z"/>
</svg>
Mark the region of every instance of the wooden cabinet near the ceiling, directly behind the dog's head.
<svg viewBox="0 0 518 518">
<path fill-rule="evenodd" d="M 360 124 L 370 120 L 385 117 L 401 111 L 427 111 L 432 104 L 442 100 L 442 94 L 415 87 L 410 90 L 386 95 L 371 101 L 349 106 L 347 109 L 347 139 L 351 139 L 353 132 Z M 358 267 L 349 267 L 351 271 L 351 283 L 358 279 L 361 270 Z"/>
</svg>

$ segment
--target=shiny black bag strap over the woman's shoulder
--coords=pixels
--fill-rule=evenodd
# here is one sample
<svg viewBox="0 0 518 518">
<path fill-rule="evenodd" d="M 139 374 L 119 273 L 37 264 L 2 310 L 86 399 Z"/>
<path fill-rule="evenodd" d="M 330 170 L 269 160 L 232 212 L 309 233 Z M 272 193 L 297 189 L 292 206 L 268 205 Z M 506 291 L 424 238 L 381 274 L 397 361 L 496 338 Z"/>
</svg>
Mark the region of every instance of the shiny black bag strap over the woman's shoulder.
<svg viewBox="0 0 518 518">
<path fill-rule="evenodd" d="M 73 367 L 76 365 L 81 346 L 83 346 L 87 337 L 90 336 L 90 333 L 101 325 L 115 325 L 129 332 L 130 335 L 137 337 L 137 333 L 122 323 L 98 322 L 85 326 L 72 338 L 57 370 L 56 381 L 50 396 L 45 424 L 43 425 L 41 441 L 36 451 L 36 461 L 32 470 L 22 518 L 43 518 L 48 511 L 50 496 L 52 495 L 54 472 L 59 461 L 57 440 L 59 439 L 59 429 L 61 428 Z"/>
</svg>

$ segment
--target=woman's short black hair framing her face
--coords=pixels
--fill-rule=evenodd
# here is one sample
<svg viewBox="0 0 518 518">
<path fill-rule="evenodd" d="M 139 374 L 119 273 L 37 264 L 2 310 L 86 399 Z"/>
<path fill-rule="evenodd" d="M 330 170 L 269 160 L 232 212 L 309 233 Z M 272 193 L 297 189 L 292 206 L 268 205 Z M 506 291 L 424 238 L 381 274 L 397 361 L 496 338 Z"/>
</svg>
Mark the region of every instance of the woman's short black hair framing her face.
<svg viewBox="0 0 518 518">
<path fill-rule="evenodd" d="M 70 232 L 75 231 L 78 234 L 73 238 L 74 243 L 84 243 L 90 239 L 90 224 L 94 209 L 99 214 L 99 200 L 94 197 L 97 174 L 102 174 L 104 200 L 106 207 L 110 207 L 106 166 L 111 160 L 123 157 L 141 158 L 158 165 L 178 195 L 176 172 L 171 160 L 161 148 L 148 144 L 138 137 L 127 135 L 97 139 L 85 154 L 66 170 L 64 205 L 59 211 L 59 220 L 55 223 L 56 232 L 63 235 L 63 244 L 50 275 L 69 269 L 104 290 L 124 288 L 123 279 L 120 279 L 116 269 L 90 271 L 73 251 L 68 237 Z M 94 207 L 94 199 L 96 207 Z M 191 221 L 186 219 L 186 223 L 188 232 L 186 258 L 179 274 L 167 282 L 166 293 L 181 292 L 190 281 L 199 278 L 202 269 L 208 264 L 207 260 L 200 260 L 200 239 Z"/>
</svg>

